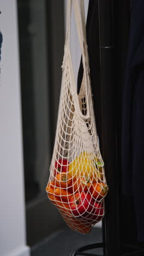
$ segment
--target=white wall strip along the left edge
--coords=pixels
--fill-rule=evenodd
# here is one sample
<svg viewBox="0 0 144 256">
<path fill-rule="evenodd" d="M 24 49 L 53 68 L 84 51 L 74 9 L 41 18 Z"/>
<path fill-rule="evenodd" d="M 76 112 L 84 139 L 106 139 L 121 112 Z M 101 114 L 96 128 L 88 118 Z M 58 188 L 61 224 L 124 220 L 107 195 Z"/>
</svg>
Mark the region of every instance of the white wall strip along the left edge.
<svg viewBox="0 0 144 256">
<path fill-rule="evenodd" d="M 0 255 L 28 256 L 21 132 L 16 0 L 0 0 Z"/>
</svg>

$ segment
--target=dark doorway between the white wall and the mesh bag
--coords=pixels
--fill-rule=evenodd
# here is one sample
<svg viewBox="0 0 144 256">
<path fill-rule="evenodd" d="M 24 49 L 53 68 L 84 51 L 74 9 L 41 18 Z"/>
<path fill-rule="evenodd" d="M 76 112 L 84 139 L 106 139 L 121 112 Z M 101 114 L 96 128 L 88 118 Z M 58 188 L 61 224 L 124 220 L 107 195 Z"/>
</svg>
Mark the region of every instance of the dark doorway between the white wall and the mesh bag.
<svg viewBox="0 0 144 256">
<path fill-rule="evenodd" d="M 17 0 L 17 10 L 27 245 L 33 246 L 65 226 L 45 192 L 61 88 L 64 2 Z"/>
</svg>

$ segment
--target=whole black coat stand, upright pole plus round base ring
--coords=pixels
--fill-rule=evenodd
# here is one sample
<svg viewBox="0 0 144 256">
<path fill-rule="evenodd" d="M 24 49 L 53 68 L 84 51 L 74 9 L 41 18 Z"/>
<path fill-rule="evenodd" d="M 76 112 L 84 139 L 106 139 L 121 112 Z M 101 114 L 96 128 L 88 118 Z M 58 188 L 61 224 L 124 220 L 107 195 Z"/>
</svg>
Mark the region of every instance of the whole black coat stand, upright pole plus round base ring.
<svg viewBox="0 0 144 256">
<path fill-rule="evenodd" d="M 129 0 L 128 0 L 129 1 Z M 125 3 L 128 1 L 125 0 Z M 122 0 L 124 3 L 124 1 Z M 106 214 L 103 220 L 103 242 L 87 245 L 71 254 L 100 256 L 86 253 L 89 249 L 103 248 L 103 256 L 142 256 L 139 247 L 122 244 L 121 222 L 121 136 L 119 136 L 119 100 L 117 95 L 116 51 L 113 25 L 113 0 L 99 0 L 99 45 L 100 45 L 100 84 L 101 84 L 101 143 L 105 162 L 105 174 L 109 193 L 105 198 Z M 120 104 L 121 105 L 121 104 Z M 120 106 L 121 107 L 121 106 Z M 121 111 L 120 111 L 121 112 Z M 120 173 L 120 174 L 119 174 Z"/>
</svg>

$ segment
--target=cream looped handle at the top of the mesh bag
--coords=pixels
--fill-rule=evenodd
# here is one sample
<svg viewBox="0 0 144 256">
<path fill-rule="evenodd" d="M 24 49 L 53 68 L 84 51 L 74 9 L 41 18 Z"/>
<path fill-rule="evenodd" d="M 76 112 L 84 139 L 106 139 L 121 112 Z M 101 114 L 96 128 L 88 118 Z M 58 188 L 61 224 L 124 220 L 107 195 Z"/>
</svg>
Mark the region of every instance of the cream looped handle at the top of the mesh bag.
<svg viewBox="0 0 144 256">
<path fill-rule="evenodd" d="M 70 54 L 70 21 L 71 21 L 71 8 L 74 7 L 74 14 L 75 14 L 75 22 L 77 27 L 77 33 L 79 36 L 79 42 L 80 42 L 80 48 L 81 48 L 81 54 L 82 54 L 82 64 L 83 64 L 83 75 L 85 76 L 85 90 L 86 90 L 86 104 L 87 104 L 87 114 L 83 115 L 81 113 L 80 104 L 79 104 L 79 97 L 77 95 L 76 91 L 76 84 L 74 79 L 74 71 L 73 71 L 73 65 L 71 62 L 71 54 Z M 73 97 L 74 97 L 74 103 L 75 103 L 75 109 L 77 110 L 77 114 L 82 120 L 89 119 L 89 88 L 88 88 L 88 78 L 87 78 L 87 72 L 89 69 L 88 66 L 88 54 L 87 54 L 87 43 L 86 43 L 86 25 L 85 25 L 85 7 L 83 0 L 68 0 L 67 1 L 67 32 L 66 32 L 66 39 L 65 39 L 65 53 L 68 53 L 70 56 L 70 65 L 72 70 L 72 80 L 73 83 L 71 83 L 71 90 L 73 91 Z"/>
</svg>

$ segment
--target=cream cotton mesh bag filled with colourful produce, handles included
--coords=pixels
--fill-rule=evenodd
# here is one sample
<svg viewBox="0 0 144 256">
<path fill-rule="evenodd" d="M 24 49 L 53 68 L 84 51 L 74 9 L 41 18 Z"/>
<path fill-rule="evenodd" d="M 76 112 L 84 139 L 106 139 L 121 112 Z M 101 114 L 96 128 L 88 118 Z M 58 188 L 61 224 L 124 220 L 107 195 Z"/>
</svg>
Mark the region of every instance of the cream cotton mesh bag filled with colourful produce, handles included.
<svg viewBox="0 0 144 256">
<path fill-rule="evenodd" d="M 70 56 L 71 7 L 74 7 L 83 63 L 79 95 Z M 55 146 L 46 192 L 68 226 L 84 234 L 103 218 L 108 188 L 94 119 L 82 0 L 68 0 L 62 68 Z"/>
</svg>

